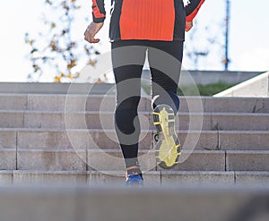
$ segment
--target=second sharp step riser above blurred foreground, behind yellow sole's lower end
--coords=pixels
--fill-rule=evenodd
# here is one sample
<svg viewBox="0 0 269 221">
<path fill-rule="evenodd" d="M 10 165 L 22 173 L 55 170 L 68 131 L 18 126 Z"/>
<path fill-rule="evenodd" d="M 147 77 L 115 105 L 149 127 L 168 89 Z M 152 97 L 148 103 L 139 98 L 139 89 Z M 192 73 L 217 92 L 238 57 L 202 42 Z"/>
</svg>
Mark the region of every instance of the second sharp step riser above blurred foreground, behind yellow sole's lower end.
<svg viewBox="0 0 269 221">
<path fill-rule="evenodd" d="M 1 150 L 0 170 L 39 171 L 124 171 L 125 162 L 120 150 L 107 151 L 40 151 Z M 156 170 L 153 152 L 140 153 L 143 171 Z M 86 165 L 86 162 L 88 165 Z M 180 164 L 172 171 L 269 171 L 269 153 L 248 151 L 194 151 L 190 156 L 183 152 Z M 163 169 L 157 166 L 158 171 Z"/>
</svg>

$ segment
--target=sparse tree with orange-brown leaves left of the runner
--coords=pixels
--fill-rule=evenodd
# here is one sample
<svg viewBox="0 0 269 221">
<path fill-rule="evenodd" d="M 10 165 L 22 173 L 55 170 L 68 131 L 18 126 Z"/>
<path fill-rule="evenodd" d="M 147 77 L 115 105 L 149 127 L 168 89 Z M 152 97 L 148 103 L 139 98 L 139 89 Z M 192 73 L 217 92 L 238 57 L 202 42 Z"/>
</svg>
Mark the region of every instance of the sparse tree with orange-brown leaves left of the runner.
<svg viewBox="0 0 269 221">
<path fill-rule="evenodd" d="M 25 34 L 25 42 L 30 46 L 30 81 L 39 81 L 49 69 L 53 70 L 51 74 L 54 74 L 56 82 L 71 81 L 78 77 L 78 72 L 72 70 L 82 56 L 87 57 L 88 64 L 96 64 L 91 57 L 99 55 L 99 51 L 84 41 L 77 42 L 72 33 L 75 17 L 81 9 L 79 2 L 45 0 L 44 4 L 49 11 L 43 18 L 46 29 L 39 32 L 36 38 L 29 33 Z"/>
</svg>

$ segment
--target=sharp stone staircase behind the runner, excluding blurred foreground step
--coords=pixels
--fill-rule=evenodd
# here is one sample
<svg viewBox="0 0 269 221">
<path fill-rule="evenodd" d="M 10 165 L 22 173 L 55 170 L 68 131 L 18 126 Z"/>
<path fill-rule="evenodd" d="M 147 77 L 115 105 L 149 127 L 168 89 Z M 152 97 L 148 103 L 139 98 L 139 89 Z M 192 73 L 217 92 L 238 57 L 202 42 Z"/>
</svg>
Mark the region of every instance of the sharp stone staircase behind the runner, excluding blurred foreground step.
<svg viewBox="0 0 269 221">
<path fill-rule="evenodd" d="M 114 106 L 110 95 L 0 94 L 0 183 L 123 184 Z M 172 170 L 155 164 L 149 99 L 139 111 L 146 186 L 269 184 L 269 98 L 181 98 Z"/>
</svg>

